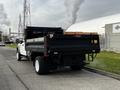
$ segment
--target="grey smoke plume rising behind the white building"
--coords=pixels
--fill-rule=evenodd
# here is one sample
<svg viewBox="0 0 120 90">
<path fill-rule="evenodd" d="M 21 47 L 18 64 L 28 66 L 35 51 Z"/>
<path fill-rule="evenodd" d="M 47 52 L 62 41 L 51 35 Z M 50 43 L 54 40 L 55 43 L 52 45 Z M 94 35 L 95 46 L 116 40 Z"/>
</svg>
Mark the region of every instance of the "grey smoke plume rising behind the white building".
<svg viewBox="0 0 120 90">
<path fill-rule="evenodd" d="M 85 0 L 65 0 L 64 4 L 67 10 L 68 27 L 76 22 L 77 12 L 84 1 Z"/>
</svg>

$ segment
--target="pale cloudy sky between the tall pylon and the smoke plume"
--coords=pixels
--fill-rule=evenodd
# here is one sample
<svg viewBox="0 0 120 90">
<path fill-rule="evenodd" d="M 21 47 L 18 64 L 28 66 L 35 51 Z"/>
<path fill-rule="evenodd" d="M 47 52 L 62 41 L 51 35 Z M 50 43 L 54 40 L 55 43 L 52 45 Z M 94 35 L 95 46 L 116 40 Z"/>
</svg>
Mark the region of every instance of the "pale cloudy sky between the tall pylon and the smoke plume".
<svg viewBox="0 0 120 90">
<path fill-rule="evenodd" d="M 42 3 L 42 2 L 39 2 Z M 36 6 L 33 4 L 32 8 Z M 32 24 L 38 26 L 61 26 L 64 18 L 63 1 L 48 0 L 37 9 L 32 9 Z"/>
</svg>

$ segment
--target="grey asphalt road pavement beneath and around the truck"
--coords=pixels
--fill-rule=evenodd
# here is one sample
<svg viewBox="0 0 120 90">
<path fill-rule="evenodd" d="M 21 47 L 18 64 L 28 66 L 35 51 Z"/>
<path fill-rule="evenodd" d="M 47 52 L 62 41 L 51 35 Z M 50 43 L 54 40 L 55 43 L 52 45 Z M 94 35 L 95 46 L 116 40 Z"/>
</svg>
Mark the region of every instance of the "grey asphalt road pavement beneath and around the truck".
<svg viewBox="0 0 120 90">
<path fill-rule="evenodd" d="M 120 90 L 120 81 L 68 68 L 37 75 L 32 62 L 16 60 L 15 49 L 0 47 L 0 90 Z"/>
</svg>

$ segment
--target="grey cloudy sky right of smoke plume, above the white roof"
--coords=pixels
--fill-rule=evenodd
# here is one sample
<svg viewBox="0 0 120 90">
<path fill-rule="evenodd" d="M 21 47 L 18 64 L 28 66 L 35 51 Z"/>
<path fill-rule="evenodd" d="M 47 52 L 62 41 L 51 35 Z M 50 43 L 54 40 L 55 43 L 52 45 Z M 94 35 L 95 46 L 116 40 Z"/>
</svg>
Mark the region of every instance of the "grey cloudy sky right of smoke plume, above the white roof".
<svg viewBox="0 0 120 90">
<path fill-rule="evenodd" d="M 78 13 L 78 22 L 120 13 L 120 0 L 86 0 Z"/>
</svg>

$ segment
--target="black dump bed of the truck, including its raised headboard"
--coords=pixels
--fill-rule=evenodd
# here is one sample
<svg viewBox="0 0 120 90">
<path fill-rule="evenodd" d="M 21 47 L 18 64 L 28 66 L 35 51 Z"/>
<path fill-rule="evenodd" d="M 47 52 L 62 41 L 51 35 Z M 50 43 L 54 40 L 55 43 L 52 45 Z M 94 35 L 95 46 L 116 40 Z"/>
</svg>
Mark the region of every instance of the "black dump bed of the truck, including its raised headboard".
<svg viewBox="0 0 120 90">
<path fill-rule="evenodd" d="M 49 34 L 53 34 L 49 37 Z M 61 28 L 27 27 L 26 40 L 43 37 L 43 41 L 29 42 L 27 47 L 34 50 L 47 49 L 51 52 L 98 53 L 100 51 L 97 34 L 66 35 Z M 47 40 L 45 40 L 45 38 Z M 35 42 L 34 42 L 35 41 Z M 45 46 L 45 43 L 47 45 Z M 31 49 L 32 50 L 32 49 Z"/>
</svg>

